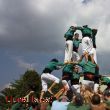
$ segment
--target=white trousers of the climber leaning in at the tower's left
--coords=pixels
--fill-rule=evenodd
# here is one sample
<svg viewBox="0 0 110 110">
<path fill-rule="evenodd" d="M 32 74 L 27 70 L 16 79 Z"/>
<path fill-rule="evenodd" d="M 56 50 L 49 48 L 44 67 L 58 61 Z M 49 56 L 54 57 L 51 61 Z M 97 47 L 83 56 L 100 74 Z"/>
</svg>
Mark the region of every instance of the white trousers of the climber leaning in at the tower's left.
<svg viewBox="0 0 110 110">
<path fill-rule="evenodd" d="M 55 77 L 54 75 L 52 74 L 49 74 L 49 73 L 43 73 L 41 75 L 41 83 L 42 83 L 42 91 L 47 91 L 47 88 L 48 88 L 48 81 L 53 81 L 55 83 L 59 83 L 60 82 L 60 79 Z"/>
</svg>

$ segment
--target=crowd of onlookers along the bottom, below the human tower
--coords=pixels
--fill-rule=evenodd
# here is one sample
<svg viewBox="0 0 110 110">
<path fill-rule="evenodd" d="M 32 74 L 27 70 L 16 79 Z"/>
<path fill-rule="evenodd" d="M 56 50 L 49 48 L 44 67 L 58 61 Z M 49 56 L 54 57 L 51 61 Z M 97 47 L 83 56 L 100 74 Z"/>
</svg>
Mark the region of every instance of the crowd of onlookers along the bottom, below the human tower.
<svg viewBox="0 0 110 110">
<path fill-rule="evenodd" d="M 86 88 L 84 94 L 61 95 L 51 97 L 49 101 L 33 103 L 15 103 L 8 110 L 110 110 L 110 89 L 103 93 L 94 93 L 91 88 Z"/>
</svg>

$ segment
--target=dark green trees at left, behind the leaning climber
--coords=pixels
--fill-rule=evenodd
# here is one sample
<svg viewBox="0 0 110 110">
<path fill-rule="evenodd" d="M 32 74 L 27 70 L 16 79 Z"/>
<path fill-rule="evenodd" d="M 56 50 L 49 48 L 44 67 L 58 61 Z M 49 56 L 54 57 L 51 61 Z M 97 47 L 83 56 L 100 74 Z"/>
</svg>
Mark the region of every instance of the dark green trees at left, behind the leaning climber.
<svg viewBox="0 0 110 110">
<path fill-rule="evenodd" d="M 31 90 L 35 91 L 36 97 L 39 97 L 40 89 L 40 75 L 35 70 L 27 70 L 21 75 L 20 79 L 11 83 L 10 88 L 5 88 L 1 91 L 0 106 L 6 108 L 11 106 L 11 103 L 6 102 L 6 96 L 12 96 L 16 99 L 26 96 Z"/>
</svg>

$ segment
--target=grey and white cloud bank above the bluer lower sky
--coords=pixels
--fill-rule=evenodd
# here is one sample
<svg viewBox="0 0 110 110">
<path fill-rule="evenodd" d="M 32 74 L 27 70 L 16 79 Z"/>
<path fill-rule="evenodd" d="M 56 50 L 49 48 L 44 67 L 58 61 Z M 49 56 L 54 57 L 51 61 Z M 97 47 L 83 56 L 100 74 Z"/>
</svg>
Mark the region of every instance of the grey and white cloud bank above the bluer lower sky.
<svg viewBox="0 0 110 110">
<path fill-rule="evenodd" d="M 82 0 L 1 2 L 0 46 L 3 48 L 56 53 L 63 50 L 63 35 L 70 25 L 88 24 L 98 28 L 98 51 L 110 50 L 109 0 L 86 0 L 86 3 Z"/>
</svg>

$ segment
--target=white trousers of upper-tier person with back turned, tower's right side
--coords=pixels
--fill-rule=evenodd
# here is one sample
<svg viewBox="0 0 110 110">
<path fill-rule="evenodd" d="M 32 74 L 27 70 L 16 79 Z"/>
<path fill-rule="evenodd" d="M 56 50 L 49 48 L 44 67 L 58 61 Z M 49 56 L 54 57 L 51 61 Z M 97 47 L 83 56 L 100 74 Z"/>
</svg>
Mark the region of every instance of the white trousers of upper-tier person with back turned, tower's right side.
<svg viewBox="0 0 110 110">
<path fill-rule="evenodd" d="M 83 53 L 85 53 L 85 52 L 90 53 L 92 48 L 93 48 L 92 39 L 89 38 L 89 37 L 84 37 L 82 39 L 82 50 L 83 50 Z"/>
</svg>

